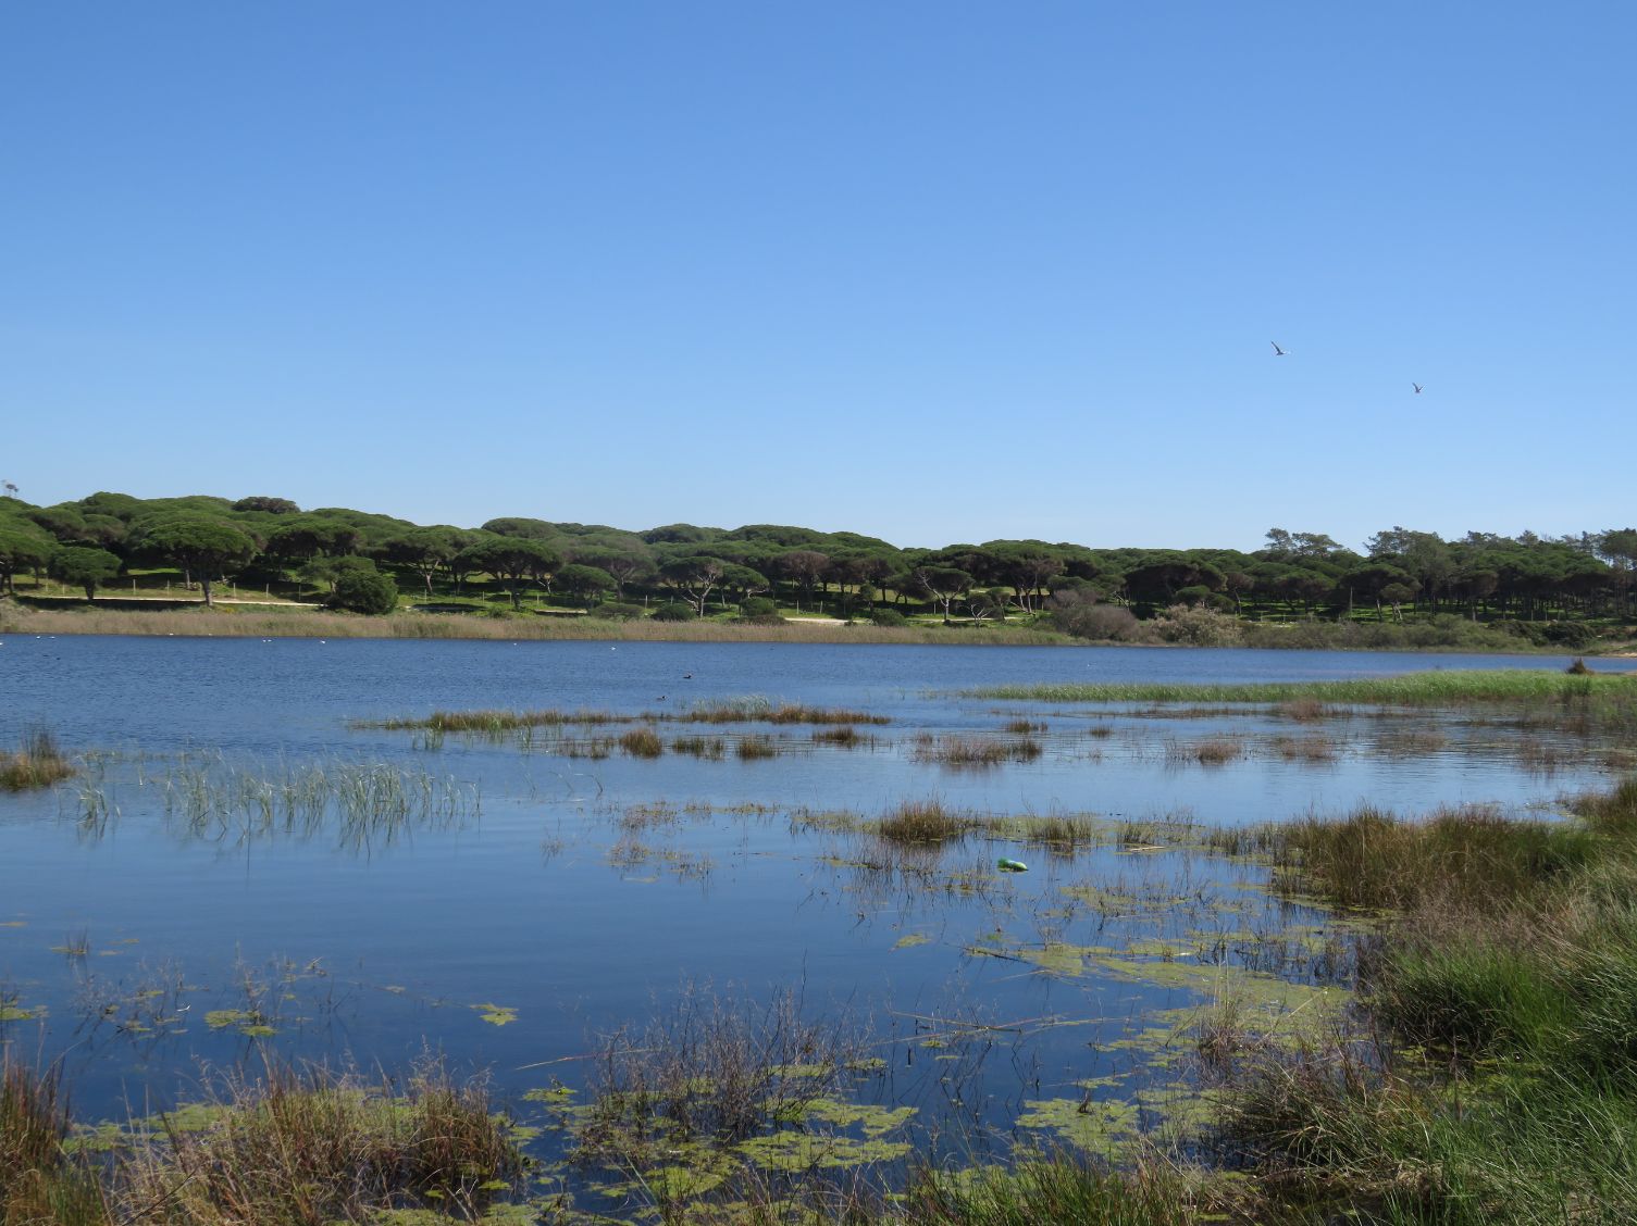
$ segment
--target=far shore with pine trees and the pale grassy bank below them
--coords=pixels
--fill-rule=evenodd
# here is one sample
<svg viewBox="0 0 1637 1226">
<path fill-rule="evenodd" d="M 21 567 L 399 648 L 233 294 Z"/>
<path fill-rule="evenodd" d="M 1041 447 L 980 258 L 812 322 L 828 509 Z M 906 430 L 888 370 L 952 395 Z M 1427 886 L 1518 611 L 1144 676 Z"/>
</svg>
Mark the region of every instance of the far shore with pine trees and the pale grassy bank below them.
<svg viewBox="0 0 1637 1226">
<path fill-rule="evenodd" d="M 1118 642 L 1630 651 L 1637 528 L 1391 528 L 1354 551 L 997 539 L 902 548 L 799 525 L 422 526 L 270 495 L 0 497 L 0 631 L 260 638 Z"/>
</svg>

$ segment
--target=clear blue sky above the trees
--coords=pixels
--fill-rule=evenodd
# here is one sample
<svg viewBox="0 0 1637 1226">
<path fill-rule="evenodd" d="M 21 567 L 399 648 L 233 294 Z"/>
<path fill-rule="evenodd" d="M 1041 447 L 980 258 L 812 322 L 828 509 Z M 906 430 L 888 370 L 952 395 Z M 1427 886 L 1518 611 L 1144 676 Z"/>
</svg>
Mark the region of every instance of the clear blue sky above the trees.
<svg viewBox="0 0 1637 1226">
<path fill-rule="evenodd" d="M 1626 2 L 7 5 L 0 476 L 899 544 L 1626 525 L 1634 46 Z"/>
</svg>

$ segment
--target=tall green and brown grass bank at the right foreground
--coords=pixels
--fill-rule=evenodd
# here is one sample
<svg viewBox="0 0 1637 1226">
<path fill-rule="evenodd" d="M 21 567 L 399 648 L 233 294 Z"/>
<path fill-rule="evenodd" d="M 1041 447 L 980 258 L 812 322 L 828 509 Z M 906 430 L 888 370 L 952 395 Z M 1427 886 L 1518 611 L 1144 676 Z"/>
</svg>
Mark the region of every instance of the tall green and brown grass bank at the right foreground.
<svg viewBox="0 0 1637 1226">
<path fill-rule="evenodd" d="M 1383 1223 L 1624 1223 L 1637 1205 L 1637 780 L 1572 819 L 1357 812 L 1297 848 L 1390 906 L 1370 1031 L 1241 1071 L 1224 1141 L 1256 1187 Z"/>
</svg>

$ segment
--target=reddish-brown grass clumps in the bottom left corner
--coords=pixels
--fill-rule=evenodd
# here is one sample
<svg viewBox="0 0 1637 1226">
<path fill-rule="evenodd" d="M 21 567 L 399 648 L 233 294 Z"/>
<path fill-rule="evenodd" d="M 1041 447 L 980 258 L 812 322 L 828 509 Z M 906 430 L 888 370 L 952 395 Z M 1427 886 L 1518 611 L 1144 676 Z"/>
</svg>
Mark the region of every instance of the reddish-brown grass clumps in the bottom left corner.
<svg viewBox="0 0 1637 1226">
<path fill-rule="evenodd" d="M 419 1069 L 403 1094 L 326 1072 L 231 1079 L 198 1112 L 134 1125 L 105 1161 L 64 1148 L 54 1074 L 0 1069 L 0 1221 L 308 1226 L 435 1206 L 481 1213 L 524 1161 L 481 1082 Z"/>
</svg>

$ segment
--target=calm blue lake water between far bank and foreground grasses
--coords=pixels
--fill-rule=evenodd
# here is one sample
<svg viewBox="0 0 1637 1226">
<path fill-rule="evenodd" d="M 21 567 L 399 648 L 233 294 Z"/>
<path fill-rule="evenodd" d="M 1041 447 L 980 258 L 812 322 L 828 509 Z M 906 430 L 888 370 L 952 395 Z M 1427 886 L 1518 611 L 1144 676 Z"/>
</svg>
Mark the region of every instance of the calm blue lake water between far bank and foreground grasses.
<svg viewBox="0 0 1637 1226">
<path fill-rule="evenodd" d="M 1062 1103 L 1089 1098 L 1121 1103 L 1105 1113 L 1110 1128 L 1144 1126 L 1164 1112 L 1156 1087 L 1175 1076 L 1162 1054 L 1174 1010 L 1208 1000 L 1228 969 L 1259 976 L 1269 1009 L 1306 1000 L 1277 982 L 1300 994 L 1344 976 L 1346 955 L 1305 927 L 1318 912 L 1272 901 L 1265 870 L 1169 845 L 1053 857 L 967 840 L 884 870 L 873 835 L 804 814 L 873 819 L 938 798 L 994 814 L 1233 826 L 1364 799 L 1401 811 L 1550 806 L 1603 781 L 1594 755 L 1554 752 L 1550 737 L 1506 724 L 1355 714 L 1308 726 L 958 691 L 1567 664 L 13 636 L 0 646 L 0 744 L 47 727 L 93 757 L 52 793 L 0 793 L 0 1041 L 61 1056 L 87 1118 L 187 1098 L 205 1063 L 264 1045 L 386 1069 L 432 1048 L 457 1067 L 493 1069 L 498 1090 L 522 1103 L 553 1079 L 579 1087 L 599 1035 L 640 1028 L 689 984 L 753 1002 L 791 989 L 810 1015 L 845 1013 L 869 1031 L 881 1064 L 858 1092 L 913 1107 L 904 1134 L 954 1121 L 967 1143 L 1072 1136 L 1090 1116 L 1066 1116 Z M 1593 662 L 1616 665 L 1629 662 Z M 724 737 L 720 760 L 586 755 L 620 726 L 527 742 L 355 726 L 473 708 L 679 714 L 750 695 L 891 723 L 861 727 L 851 749 L 800 726 L 658 724 L 666 742 Z M 923 760 L 917 737 L 1005 739 L 1017 718 L 1046 724 L 1033 760 Z M 751 734 L 778 754 L 737 757 Z M 1211 737 L 1242 755 L 1200 765 L 1190 747 Z M 1305 752 L 1310 741 L 1324 744 Z M 332 780 L 375 770 L 375 786 L 390 778 L 419 799 L 404 821 L 349 826 L 332 793 L 295 824 L 262 824 L 247 781 L 295 788 L 314 768 Z M 1031 871 L 997 875 L 997 857 Z M 999 1028 L 974 1038 L 974 1020 Z M 552 1133 L 537 1144 L 550 1151 Z"/>
</svg>

